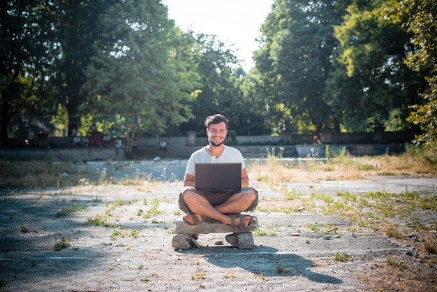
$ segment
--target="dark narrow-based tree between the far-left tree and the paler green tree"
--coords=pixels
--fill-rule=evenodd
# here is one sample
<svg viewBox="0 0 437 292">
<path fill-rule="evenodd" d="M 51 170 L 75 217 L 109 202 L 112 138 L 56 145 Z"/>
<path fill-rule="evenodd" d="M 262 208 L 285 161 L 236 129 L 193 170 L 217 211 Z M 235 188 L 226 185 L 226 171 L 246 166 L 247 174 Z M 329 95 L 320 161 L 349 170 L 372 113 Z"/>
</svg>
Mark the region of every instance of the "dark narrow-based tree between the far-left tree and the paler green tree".
<svg viewBox="0 0 437 292">
<path fill-rule="evenodd" d="M 121 0 L 54 0 L 57 21 L 54 30 L 61 53 L 57 59 L 57 75 L 52 87 L 68 112 L 68 134 L 80 122 L 79 106 L 85 99 L 80 89 L 87 78 L 84 70 L 94 56 L 93 45 L 103 37 L 103 20 L 108 10 Z"/>
</svg>

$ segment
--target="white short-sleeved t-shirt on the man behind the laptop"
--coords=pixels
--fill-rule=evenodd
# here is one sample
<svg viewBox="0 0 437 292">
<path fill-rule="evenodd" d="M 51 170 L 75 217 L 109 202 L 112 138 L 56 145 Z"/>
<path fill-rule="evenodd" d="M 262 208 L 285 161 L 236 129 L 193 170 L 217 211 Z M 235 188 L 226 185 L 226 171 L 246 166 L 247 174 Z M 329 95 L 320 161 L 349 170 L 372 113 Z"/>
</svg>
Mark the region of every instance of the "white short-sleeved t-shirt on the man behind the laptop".
<svg viewBox="0 0 437 292">
<path fill-rule="evenodd" d="M 198 149 L 191 154 L 190 159 L 186 165 L 185 173 L 188 175 L 195 175 L 195 163 L 242 163 L 242 169 L 246 168 L 246 163 L 244 163 L 244 158 L 239 149 L 225 146 L 225 150 L 216 158 L 216 156 L 210 155 L 205 147 Z"/>
</svg>

